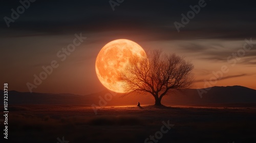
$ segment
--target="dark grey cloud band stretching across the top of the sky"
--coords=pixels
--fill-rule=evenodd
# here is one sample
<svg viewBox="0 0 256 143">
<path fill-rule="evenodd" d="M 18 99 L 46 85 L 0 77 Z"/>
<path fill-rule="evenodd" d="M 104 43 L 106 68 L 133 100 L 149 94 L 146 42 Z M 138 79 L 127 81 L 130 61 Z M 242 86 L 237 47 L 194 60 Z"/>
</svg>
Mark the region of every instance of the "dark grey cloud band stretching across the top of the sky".
<svg viewBox="0 0 256 143">
<path fill-rule="evenodd" d="M 181 20 L 181 13 L 190 11 L 194 1 L 124 1 L 115 11 L 109 1 L 39 1 L 11 23 L 8 29 L 4 19 L 0 28 L 24 30 L 44 34 L 65 34 L 77 31 L 90 33 L 123 31 L 152 35 L 149 40 L 173 39 L 241 39 L 256 37 L 254 1 L 220 2 L 205 1 L 199 14 L 178 33 L 174 22 Z M 5 1 L 1 17 L 10 16 L 10 9 L 18 1 Z M 4 34 L 4 33 L 3 33 Z M 26 34 L 26 32 L 24 32 Z"/>
</svg>

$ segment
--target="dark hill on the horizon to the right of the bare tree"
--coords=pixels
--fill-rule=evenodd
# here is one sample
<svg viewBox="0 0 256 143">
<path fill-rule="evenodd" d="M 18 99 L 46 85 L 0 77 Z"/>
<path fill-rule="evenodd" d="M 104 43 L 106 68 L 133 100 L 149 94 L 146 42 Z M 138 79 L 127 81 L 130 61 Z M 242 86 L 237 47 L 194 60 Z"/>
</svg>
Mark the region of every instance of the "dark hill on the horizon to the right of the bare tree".
<svg viewBox="0 0 256 143">
<path fill-rule="evenodd" d="M 199 95 L 199 91 L 206 93 Z M 186 89 L 168 97 L 171 104 L 256 103 L 256 90 L 243 86 Z M 176 102 L 176 103 L 175 103 Z"/>
</svg>

